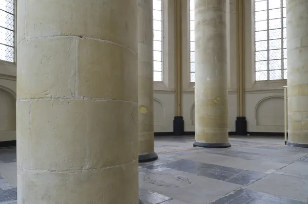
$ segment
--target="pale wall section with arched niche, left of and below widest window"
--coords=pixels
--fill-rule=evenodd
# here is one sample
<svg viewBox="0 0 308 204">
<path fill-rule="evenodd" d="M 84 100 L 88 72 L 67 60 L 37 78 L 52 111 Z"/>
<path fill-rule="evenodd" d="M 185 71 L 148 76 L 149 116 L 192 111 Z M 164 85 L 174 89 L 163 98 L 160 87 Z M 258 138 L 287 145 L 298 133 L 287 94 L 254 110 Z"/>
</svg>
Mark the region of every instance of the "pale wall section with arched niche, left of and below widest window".
<svg viewBox="0 0 308 204">
<path fill-rule="evenodd" d="M 249 132 L 284 132 L 286 80 L 255 80 L 254 4 L 245 6 L 245 115 Z"/>
</svg>

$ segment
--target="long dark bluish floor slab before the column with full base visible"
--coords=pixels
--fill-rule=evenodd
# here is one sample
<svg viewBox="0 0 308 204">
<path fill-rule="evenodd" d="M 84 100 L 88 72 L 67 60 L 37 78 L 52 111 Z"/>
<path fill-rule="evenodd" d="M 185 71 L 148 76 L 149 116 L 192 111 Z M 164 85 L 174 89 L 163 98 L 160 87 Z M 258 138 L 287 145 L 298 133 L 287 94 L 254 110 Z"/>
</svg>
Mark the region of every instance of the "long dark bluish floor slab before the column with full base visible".
<svg viewBox="0 0 308 204">
<path fill-rule="evenodd" d="M 190 160 L 179 160 L 162 166 L 177 171 L 197 174 L 199 176 L 224 180 L 228 183 L 240 185 L 248 185 L 255 180 L 265 176 L 265 174 L 259 172 L 235 169 L 214 164 L 206 164 Z"/>
</svg>

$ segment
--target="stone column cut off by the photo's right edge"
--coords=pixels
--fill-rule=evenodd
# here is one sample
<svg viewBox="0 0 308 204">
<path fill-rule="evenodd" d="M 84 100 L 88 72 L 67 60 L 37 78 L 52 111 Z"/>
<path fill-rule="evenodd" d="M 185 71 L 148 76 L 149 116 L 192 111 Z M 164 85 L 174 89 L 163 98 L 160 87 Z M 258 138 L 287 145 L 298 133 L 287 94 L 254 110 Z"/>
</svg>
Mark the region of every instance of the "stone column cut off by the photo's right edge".
<svg viewBox="0 0 308 204">
<path fill-rule="evenodd" d="M 286 1 L 287 145 L 308 148 L 308 1 Z"/>
</svg>

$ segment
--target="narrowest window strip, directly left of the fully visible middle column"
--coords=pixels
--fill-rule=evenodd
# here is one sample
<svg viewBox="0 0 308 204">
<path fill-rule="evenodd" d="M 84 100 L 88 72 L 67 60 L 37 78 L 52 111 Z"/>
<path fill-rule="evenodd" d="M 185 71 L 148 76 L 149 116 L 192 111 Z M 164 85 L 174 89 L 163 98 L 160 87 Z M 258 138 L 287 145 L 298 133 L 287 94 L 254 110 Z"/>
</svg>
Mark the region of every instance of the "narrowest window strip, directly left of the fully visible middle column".
<svg viewBox="0 0 308 204">
<path fill-rule="evenodd" d="M 190 82 L 195 82 L 195 0 L 189 2 Z"/>
</svg>

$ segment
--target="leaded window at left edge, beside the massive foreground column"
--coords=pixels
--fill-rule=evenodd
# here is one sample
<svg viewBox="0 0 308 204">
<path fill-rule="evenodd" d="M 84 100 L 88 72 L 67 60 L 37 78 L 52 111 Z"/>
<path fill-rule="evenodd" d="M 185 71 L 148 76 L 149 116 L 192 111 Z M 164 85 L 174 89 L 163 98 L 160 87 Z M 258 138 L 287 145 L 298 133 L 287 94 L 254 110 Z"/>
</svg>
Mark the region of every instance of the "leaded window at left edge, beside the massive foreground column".
<svg viewBox="0 0 308 204">
<path fill-rule="evenodd" d="M 0 60 L 14 62 L 14 0 L 0 0 Z"/>
</svg>

